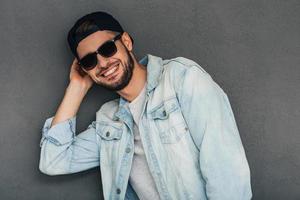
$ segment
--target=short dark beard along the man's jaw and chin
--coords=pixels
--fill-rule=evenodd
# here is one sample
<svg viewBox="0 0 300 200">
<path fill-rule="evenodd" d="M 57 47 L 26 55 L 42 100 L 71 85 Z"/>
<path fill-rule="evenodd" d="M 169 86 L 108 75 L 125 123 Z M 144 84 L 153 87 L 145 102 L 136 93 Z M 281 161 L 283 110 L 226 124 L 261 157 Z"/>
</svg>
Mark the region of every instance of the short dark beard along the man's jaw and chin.
<svg viewBox="0 0 300 200">
<path fill-rule="evenodd" d="M 131 54 L 129 53 L 129 51 L 127 50 L 127 48 L 125 48 L 126 50 L 126 62 L 124 63 L 124 65 L 119 65 L 119 67 L 123 66 L 123 73 L 121 75 L 121 77 L 116 80 L 114 83 L 111 84 L 106 84 L 106 83 L 98 83 L 99 85 L 101 85 L 102 87 L 111 90 L 111 91 L 118 91 L 118 90 L 122 90 L 123 88 L 125 88 L 128 83 L 131 80 L 132 77 L 132 73 L 133 73 L 133 68 L 134 68 L 134 62 L 133 62 L 133 58 L 131 56 Z"/>
</svg>

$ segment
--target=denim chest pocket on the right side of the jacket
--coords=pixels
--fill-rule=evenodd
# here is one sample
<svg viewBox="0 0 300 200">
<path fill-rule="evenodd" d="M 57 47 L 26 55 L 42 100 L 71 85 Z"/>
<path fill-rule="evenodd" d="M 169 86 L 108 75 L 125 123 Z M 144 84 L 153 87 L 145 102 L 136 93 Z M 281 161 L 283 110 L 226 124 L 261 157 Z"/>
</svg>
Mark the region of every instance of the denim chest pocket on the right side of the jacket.
<svg viewBox="0 0 300 200">
<path fill-rule="evenodd" d="M 163 101 L 149 112 L 162 143 L 177 143 L 188 132 L 176 97 Z"/>
</svg>

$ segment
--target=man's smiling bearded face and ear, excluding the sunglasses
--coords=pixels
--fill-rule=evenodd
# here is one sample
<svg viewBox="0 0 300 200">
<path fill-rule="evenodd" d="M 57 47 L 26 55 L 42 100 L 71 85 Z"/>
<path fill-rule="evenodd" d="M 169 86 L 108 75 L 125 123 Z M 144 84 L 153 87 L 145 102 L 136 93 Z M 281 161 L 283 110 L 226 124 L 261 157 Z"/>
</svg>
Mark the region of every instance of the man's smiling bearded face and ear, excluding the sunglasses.
<svg viewBox="0 0 300 200">
<path fill-rule="evenodd" d="M 77 47 L 79 58 L 83 58 L 88 53 L 95 52 L 100 45 L 107 40 L 114 38 L 114 34 L 107 31 L 97 31 L 84 38 Z M 121 39 L 115 41 L 117 52 L 109 57 L 97 54 L 98 64 L 92 70 L 84 70 L 95 83 L 113 91 L 118 91 L 126 87 L 132 77 L 134 61 L 129 51 L 132 43 L 129 35 L 123 33 Z M 129 50 L 128 50 L 129 49 Z"/>
</svg>

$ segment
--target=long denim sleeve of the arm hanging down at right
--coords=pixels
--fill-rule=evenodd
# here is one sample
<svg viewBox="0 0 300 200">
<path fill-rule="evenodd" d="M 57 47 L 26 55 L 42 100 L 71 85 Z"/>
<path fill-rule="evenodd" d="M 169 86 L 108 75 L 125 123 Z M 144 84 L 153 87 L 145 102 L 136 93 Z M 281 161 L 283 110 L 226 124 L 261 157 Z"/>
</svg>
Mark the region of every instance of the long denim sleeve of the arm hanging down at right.
<svg viewBox="0 0 300 200">
<path fill-rule="evenodd" d="M 199 150 L 208 199 L 251 199 L 250 169 L 226 93 L 199 66 L 178 88 L 182 113 Z"/>
</svg>

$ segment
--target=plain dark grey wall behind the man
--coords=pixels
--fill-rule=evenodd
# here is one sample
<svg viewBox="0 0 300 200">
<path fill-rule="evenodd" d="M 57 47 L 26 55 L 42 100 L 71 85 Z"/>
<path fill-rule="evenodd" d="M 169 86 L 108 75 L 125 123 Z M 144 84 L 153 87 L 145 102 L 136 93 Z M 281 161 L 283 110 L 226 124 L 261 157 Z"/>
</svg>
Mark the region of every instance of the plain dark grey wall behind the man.
<svg viewBox="0 0 300 200">
<path fill-rule="evenodd" d="M 253 199 L 300 199 L 300 1 L 0 1 L 0 199 L 102 199 L 99 168 L 38 170 L 41 128 L 68 84 L 66 34 L 78 17 L 112 13 L 146 53 L 184 56 L 228 94 L 251 169 Z M 117 95 L 94 86 L 80 132 Z"/>
</svg>

